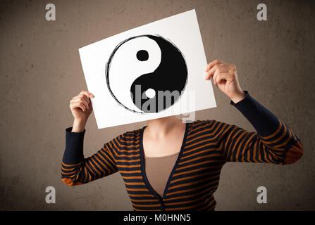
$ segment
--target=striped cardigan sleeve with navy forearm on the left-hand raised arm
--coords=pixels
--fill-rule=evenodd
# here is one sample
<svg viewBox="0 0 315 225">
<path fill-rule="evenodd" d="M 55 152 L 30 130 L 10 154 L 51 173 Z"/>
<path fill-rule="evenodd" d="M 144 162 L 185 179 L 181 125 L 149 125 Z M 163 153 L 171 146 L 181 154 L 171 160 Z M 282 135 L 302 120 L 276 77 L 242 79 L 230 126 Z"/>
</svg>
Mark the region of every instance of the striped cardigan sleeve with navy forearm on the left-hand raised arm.
<svg viewBox="0 0 315 225">
<path fill-rule="evenodd" d="M 65 184 L 68 186 L 86 184 L 118 171 L 114 157 L 119 148 L 118 138 L 105 143 L 94 155 L 84 158 L 85 130 L 71 131 L 72 127 L 66 129 L 66 148 L 61 164 L 61 180 Z"/>
</svg>

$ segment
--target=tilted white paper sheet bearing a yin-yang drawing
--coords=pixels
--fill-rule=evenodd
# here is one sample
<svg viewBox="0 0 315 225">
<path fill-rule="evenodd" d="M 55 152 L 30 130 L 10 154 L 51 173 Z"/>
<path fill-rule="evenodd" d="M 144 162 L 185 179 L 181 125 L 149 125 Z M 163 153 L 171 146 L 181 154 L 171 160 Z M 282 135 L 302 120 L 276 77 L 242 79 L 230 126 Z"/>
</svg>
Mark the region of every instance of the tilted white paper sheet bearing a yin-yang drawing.
<svg viewBox="0 0 315 225">
<path fill-rule="evenodd" d="M 180 51 L 182 59 L 173 47 Z M 92 106 L 99 129 L 216 107 L 211 82 L 204 80 L 207 62 L 194 9 L 97 41 L 79 52 L 87 89 L 95 96 Z M 173 65 L 173 61 L 177 64 Z M 155 94 L 157 98 L 156 85 L 176 86 L 180 95 L 162 110 L 143 110 L 143 104 L 135 104 L 130 96 L 135 79 L 141 85 L 152 80 L 153 89 L 142 85 L 150 89 L 147 96 Z"/>
</svg>

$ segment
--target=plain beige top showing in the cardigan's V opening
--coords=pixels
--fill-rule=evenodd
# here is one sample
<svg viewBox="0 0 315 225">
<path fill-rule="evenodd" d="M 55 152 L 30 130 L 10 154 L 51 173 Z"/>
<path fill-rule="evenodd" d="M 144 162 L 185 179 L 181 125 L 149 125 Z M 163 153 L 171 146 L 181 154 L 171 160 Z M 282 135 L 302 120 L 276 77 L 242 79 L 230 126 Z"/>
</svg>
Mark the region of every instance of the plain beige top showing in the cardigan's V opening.
<svg viewBox="0 0 315 225">
<path fill-rule="evenodd" d="M 163 197 L 168 177 L 172 172 L 179 153 L 180 152 L 161 157 L 147 157 L 144 155 L 147 179 L 154 191 L 156 191 L 160 197 Z"/>
</svg>

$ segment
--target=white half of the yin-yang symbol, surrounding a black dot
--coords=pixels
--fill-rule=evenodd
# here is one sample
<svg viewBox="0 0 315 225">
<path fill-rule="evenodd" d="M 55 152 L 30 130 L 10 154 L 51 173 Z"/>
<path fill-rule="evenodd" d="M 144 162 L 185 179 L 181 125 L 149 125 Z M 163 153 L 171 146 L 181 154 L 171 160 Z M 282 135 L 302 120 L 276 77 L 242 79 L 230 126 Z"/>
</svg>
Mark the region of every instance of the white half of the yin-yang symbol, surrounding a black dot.
<svg viewBox="0 0 315 225">
<path fill-rule="evenodd" d="M 137 59 L 137 52 L 140 50 L 145 50 L 149 53 L 147 60 L 141 61 Z M 131 84 L 137 77 L 154 72 L 160 63 L 161 49 L 153 39 L 149 37 L 135 37 L 126 41 L 118 47 L 111 58 L 108 71 L 111 92 L 126 108 L 143 113 L 132 102 L 130 94 Z"/>
</svg>

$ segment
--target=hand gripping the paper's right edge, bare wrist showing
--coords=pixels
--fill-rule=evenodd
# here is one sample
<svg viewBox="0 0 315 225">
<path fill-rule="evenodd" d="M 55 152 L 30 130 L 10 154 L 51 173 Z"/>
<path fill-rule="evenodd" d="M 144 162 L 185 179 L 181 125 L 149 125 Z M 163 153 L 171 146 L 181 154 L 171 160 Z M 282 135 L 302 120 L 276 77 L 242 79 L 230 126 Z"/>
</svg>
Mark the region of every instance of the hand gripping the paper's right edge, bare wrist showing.
<svg viewBox="0 0 315 225">
<path fill-rule="evenodd" d="M 240 87 L 237 79 L 236 67 L 233 64 L 214 60 L 206 66 L 206 78 L 214 80 L 214 84 L 223 91 L 224 94 L 237 103 L 245 98 L 245 93 Z"/>
</svg>

